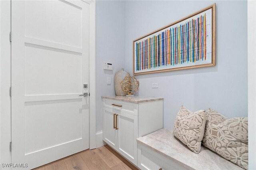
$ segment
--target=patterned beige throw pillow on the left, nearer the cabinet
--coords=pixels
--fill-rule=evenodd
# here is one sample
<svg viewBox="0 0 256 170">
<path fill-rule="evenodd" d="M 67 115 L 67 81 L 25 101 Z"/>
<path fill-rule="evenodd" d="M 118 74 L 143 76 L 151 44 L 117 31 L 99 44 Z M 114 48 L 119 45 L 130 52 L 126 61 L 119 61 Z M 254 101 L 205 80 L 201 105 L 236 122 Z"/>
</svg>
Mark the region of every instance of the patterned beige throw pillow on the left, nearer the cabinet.
<svg viewBox="0 0 256 170">
<path fill-rule="evenodd" d="M 181 106 L 174 123 L 173 134 L 193 152 L 198 154 L 204 137 L 205 110 L 192 112 Z"/>
</svg>

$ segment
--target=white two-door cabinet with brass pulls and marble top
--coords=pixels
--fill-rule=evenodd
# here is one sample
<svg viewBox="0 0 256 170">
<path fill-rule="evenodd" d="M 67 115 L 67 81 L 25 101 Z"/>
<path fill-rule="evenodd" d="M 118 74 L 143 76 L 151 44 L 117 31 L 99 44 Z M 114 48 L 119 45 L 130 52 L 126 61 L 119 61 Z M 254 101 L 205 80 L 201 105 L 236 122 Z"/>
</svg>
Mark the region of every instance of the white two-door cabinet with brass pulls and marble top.
<svg viewBox="0 0 256 170">
<path fill-rule="evenodd" d="M 163 99 L 102 97 L 102 103 L 103 140 L 137 166 L 136 138 L 163 127 Z"/>
</svg>

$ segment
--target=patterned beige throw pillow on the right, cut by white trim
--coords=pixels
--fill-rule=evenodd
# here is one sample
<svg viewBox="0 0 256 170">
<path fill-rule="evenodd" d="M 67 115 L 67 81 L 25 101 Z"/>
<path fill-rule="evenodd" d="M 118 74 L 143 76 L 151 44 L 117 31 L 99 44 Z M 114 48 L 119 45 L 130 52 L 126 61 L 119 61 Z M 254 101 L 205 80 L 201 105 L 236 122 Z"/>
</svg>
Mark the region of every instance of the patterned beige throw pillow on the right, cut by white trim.
<svg viewBox="0 0 256 170">
<path fill-rule="evenodd" d="M 248 169 L 248 118 L 228 119 L 209 109 L 203 145 L 238 166 Z"/>
</svg>

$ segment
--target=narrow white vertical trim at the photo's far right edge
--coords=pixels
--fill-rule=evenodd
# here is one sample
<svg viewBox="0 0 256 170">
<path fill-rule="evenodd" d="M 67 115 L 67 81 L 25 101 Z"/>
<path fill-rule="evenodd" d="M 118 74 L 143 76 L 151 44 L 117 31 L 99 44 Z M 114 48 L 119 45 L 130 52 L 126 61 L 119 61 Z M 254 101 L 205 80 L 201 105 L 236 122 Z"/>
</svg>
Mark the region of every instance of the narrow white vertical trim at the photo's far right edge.
<svg viewBox="0 0 256 170">
<path fill-rule="evenodd" d="M 256 169 L 256 2 L 247 1 L 247 41 L 248 41 L 248 145 L 249 145 L 249 169 Z"/>
</svg>

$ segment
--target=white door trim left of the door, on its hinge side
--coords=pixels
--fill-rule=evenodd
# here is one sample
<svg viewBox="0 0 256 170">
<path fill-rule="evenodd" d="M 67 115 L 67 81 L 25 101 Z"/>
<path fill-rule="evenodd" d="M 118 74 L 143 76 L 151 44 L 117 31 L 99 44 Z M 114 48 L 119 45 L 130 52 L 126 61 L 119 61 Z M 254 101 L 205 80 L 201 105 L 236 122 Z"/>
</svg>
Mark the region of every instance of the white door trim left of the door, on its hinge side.
<svg viewBox="0 0 256 170">
<path fill-rule="evenodd" d="M 0 162 L 11 163 L 11 1 L 0 1 Z M 2 169 L 2 166 L 0 167 Z"/>
</svg>

